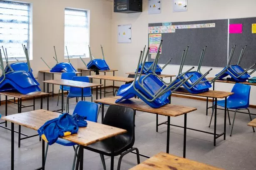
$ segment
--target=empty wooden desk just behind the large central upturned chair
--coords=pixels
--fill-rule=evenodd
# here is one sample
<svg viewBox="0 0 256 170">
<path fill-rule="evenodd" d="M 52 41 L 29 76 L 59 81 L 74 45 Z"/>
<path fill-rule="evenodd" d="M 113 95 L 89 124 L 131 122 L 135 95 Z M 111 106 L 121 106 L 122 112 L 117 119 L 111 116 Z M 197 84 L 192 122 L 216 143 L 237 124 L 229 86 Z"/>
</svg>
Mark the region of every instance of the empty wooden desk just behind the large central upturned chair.
<svg viewBox="0 0 256 170">
<path fill-rule="evenodd" d="M 114 87 L 114 81 L 121 81 L 125 83 L 131 83 L 134 81 L 134 78 L 129 78 L 129 77 L 120 77 L 120 76 L 106 76 L 106 75 L 91 75 L 87 76 L 91 79 L 99 79 L 99 83 L 101 84 L 101 80 L 104 80 L 104 83 L 106 83 L 106 80 L 111 80 L 113 81 L 113 87 Z M 114 88 L 113 88 L 113 96 L 114 96 Z M 104 97 L 106 97 L 106 87 L 104 86 Z"/>
</svg>

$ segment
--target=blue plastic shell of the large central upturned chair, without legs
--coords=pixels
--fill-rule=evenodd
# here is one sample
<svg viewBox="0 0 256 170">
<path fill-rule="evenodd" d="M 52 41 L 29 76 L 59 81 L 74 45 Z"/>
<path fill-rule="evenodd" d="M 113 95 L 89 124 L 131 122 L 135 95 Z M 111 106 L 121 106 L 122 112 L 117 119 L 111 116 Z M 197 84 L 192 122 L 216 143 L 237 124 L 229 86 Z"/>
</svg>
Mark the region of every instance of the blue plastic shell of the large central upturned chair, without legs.
<svg viewBox="0 0 256 170">
<path fill-rule="evenodd" d="M 145 76 L 141 76 L 139 80 L 140 83 L 142 83 L 142 79 L 144 77 Z M 165 94 L 163 94 L 162 96 L 159 96 L 156 100 L 152 102 L 147 101 L 142 95 L 140 95 L 139 93 L 137 93 L 137 91 L 134 90 L 133 84 L 135 83 L 135 87 L 136 89 L 139 90 L 140 93 L 146 96 L 147 99 L 153 99 L 152 96 L 149 96 L 149 94 L 147 94 L 145 90 L 142 89 L 141 86 L 139 86 L 137 82 L 138 79 L 139 77 L 137 78 L 136 81 L 133 81 L 131 84 L 124 84 L 120 86 L 117 92 L 117 96 L 122 96 L 122 98 L 117 99 L 115 101 L 116 103 L 119 103 L 124 99 L 130 99 L 135 95 L 139 96 L 140 99 L 142 99 L 145 103 L 147 103 L 152 108 L 159 108 L 169 103 L 168 97 L 171 95 L 171 91 L 167 91 Z M 147 76 L 146 79 L 144 79 L 143 84 L 144 84 L 144 87 L 147 89 L 147 91 L 149 91 L 149 93 L 152 95 L 154 95 L 164 85 L 162 81 L 160 81 L 156 76 L 152 74 Z M 129 102 L 129 101 L 124 101 L 124 102 Z"/>
</svg>

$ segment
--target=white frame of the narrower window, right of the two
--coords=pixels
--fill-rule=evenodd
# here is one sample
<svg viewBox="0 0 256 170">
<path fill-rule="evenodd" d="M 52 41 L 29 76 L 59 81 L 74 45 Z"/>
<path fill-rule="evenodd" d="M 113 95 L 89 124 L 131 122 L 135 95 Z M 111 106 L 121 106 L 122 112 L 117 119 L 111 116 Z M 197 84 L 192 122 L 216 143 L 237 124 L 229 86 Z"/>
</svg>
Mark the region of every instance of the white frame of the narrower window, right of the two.
<svg viewBox="0 0 256 170">
<path fill-rule="evenodd" d="M 87 23 L 87 25 L 88 25 L 88 45 L 90 44 L 90 10 L 86 10 L 86 9 L 78 9 L 78 8 L 71 8 L 71 7 L 65 7 L 65 9 L 64 9 L 64 58 L 65 59 L 67 59 L 68 57 L 67 57 L 67 50 L 68 50 L 68 52 L 70 51 L 69 50 L 69 47 L 67 47 L 67 50 L 66 50 L 66 46 L 65 46 L 65 10 L 77 10 L 77 11 L 86 11 L 87 12 L 87 21 L 88 21 L 88 23 Z M 85 47 L 85 50 L 86 50 L 86 56 L 84 56 L 83 54 L 81 54 L 81 55 L 76 55 L 76 56 L 74 56 L 74 55 L 72 55 L 72 54 L 70 54 L 69 53 L 69 58 L 70 59 L 77 59 L 77 58 L 80 58 L 80 57 L 82 57 L 82 58 L 89 58 L 89 49 L 88 49 L 88 47 Z"/>
</svg>

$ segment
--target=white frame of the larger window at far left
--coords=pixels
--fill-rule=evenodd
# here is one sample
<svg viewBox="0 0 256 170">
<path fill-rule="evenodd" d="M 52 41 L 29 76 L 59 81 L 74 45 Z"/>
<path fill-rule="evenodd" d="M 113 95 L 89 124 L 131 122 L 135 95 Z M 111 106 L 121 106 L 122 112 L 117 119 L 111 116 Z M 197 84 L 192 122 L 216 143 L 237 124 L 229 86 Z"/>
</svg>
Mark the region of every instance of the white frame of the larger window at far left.
<svg viewBox="0 0 256 170">
<path fill-rule="evenodd" d="M 27 44 L 23 44 L 23 45 L 26 45 L 27 47 L 27 50 L 28 50 L 28 56 L 29 56 L 29 60 L 32 60 L 33 59 L 33 48 L 32 48 L 32 3 L 29 3 L 29 2 L 20 2 L 20 1 L 12 1 L 12 0 L 0 0 L 0 1 L 4 1 L 4 2 L 15 2 L 15 3 L 20 3 L 20 4 L 27 4 L 29 5 L 29 20 L 28 20 L 28 36 L 27 36 Z M 1 45 L 1 51 L 2 51 L 2 44 L 0 43 Z M 6 47 L 4 47 L 6 48 Z M 20 49 L 22 50 L 23 52 L 23 49 L 22 49 L 22 45 L 20 44 Z M 7 53 L 9 54 L 10 53 L 10 49 L 8 50 L 7 49 Z M 3 52 L 2 52 L 2 59 L 3 61 L 5 61 L 5 56 L 3 55 Z M 25 57 L 25 53 L 24 53 L 24 57 L 17 57 L 17 59 L 19 61 L 26 61 L 26 57 Z M 10 54 L 8 55 L 8 61 L 16 61 L 16 59 L 14 57 L 10 57 Z"/>
</svg>

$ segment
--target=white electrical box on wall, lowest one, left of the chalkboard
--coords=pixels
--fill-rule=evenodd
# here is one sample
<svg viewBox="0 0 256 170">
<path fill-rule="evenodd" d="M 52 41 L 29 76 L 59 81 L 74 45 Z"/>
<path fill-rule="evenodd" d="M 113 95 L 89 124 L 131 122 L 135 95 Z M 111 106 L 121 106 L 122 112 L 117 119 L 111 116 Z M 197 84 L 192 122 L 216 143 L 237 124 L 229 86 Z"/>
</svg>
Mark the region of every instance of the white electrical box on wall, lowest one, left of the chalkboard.
<svg viewBox="0 0 256 170">
<path fill-rule="evenodd" d="M 132 42 L 132 25 L 118 25 L 118 43 L 131 43 Z"/>
</svg>

